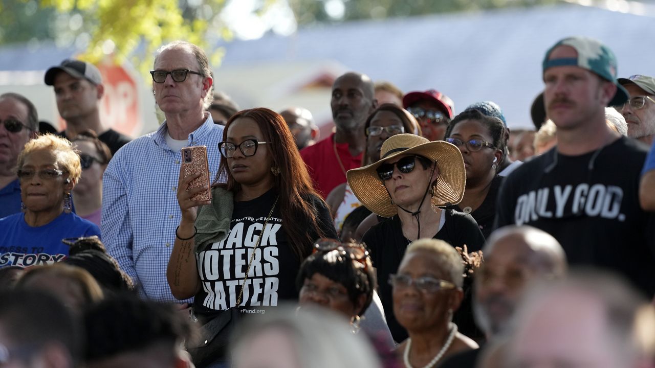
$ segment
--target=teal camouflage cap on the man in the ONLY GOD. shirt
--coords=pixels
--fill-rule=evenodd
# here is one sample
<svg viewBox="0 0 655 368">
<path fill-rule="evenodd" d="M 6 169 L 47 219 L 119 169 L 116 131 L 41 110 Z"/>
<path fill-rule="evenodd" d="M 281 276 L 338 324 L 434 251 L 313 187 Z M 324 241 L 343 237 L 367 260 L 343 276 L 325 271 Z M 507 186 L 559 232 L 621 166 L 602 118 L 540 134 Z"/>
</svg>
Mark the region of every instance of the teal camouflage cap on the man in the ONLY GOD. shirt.
<svg viewBox="0 0 655 368">
<path fill-rule="evenodd" d="M 557 46 L 571 46 L 578 52 L 577 58 L 549 59 L 550 53 Z M 628 93 L 618 81 L 616 81 L 616 56 L 607 46 L 595 39 L 588 37 L 567 37 L 555 43 L 546 51 L 544 56 L 544 72 L 550 67 L 574 65 L 591 71 L 599 77 L 616 84 L 616 94 L 608 103 L 608 106 L 617 106 L 627 101 Z"/>
</svg>

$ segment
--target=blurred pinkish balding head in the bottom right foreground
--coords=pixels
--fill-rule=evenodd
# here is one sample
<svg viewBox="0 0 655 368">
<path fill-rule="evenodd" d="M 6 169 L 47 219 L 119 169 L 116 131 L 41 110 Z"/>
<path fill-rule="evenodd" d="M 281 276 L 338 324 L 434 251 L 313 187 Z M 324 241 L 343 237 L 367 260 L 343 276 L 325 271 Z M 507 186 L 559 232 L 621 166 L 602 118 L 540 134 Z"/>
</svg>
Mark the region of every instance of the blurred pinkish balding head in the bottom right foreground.
<svg viewBox="0 0 655 368">
<path fill-rule="evenodd" d="M 533 287 L 516 311 L 503 366 L 639 367 L 634 323 L 644 304 L 624 280 L 597 271 Z"/>
</svg>

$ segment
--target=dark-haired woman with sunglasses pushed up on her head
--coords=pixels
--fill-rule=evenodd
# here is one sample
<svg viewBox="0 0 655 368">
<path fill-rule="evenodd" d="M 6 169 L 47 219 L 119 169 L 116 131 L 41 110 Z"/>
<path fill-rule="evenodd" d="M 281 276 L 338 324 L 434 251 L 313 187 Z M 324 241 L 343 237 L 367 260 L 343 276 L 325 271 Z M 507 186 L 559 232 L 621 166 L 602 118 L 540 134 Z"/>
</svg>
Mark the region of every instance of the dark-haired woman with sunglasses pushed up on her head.
<svg viewBox="0 0 655 368">
<path fill-rule="evenodd" d="M 295 284 L 301 306 L 318 304 L 339 312 L 350 321 L 352 333 L 361 327 L 386 350 L 394 348 L 375 293 L 375 270 L 364 244 L 318 240 L 312 255 L 303 261 Z"/>
</svg>

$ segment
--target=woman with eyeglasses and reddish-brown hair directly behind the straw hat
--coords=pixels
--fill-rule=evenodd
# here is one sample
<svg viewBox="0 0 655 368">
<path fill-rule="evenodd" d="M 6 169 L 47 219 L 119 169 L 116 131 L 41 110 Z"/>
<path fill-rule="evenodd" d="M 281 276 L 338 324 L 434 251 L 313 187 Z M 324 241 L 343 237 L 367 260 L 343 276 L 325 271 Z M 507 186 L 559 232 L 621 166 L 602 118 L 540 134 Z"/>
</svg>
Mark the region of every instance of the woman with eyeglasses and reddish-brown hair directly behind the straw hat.
<svg viewBox="0 0 655 368">
<path fill-rule="evenodd" d="M 421 135 L 421 128 L 417 120 L 402 107 L 393 103 L 384 103 L 380 105 L 369 115 L 364 124 L 366 136 L 366 149 L 362 155 L 362 166 L 373 164 L 380 159 L 380 149 L 382 143 L 391 136 L 402 133 L 411 133 Z M 360 202 L 348 186 L 343 183 L 333 189 L 326 198 L 327 206 L 330 208 L 334 218 L 337 232 L 341 233 L 343 221 L 346 216 L 355 208 L 360 206 Z M 369 227 L 377 223 L 377 217 L 371 215 L 365 219 Z M 341 240 L 346 240 L 342 238 Z"/>
</svg>

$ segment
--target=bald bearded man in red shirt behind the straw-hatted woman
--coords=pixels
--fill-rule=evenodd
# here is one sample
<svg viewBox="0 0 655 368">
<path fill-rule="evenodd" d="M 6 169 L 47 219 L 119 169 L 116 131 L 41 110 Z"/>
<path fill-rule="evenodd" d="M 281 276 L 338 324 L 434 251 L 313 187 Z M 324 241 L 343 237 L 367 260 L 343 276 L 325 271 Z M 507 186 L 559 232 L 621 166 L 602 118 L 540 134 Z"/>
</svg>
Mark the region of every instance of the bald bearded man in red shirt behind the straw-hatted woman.
<svg viewBox="0 0 655 368">
<path fill-rule="evenodd" d="M 377 107 L 373 81 L 364 74 L 348 72 L 332 85 L 332 118 L 336 132 L 300 151 L 314 187 L 325 198 L 346 182 L 346 172 L 362 164 L 366 145 L 364 123 Z"/>
</svg>

